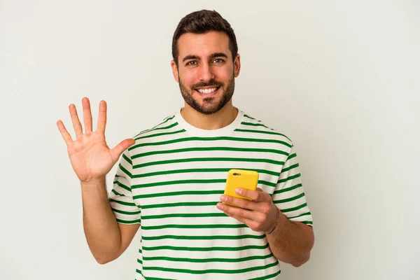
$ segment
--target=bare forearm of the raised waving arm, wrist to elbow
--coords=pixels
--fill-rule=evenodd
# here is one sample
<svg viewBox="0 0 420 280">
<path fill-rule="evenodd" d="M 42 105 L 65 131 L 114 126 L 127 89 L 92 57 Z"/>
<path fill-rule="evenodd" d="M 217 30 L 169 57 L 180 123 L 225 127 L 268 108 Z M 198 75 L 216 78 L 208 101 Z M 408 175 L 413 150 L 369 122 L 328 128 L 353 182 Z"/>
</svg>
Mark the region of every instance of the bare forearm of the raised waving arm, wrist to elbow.
<svg viewBox="0 0 420 280">
<path fill-rule="evenodd" d="M 106 193 L 105 178 L 82 183 L 83 228 L 92 255 L 99 263 L 120 255 L 121 235 Z"/>
</svg>

